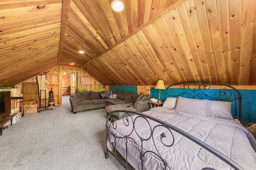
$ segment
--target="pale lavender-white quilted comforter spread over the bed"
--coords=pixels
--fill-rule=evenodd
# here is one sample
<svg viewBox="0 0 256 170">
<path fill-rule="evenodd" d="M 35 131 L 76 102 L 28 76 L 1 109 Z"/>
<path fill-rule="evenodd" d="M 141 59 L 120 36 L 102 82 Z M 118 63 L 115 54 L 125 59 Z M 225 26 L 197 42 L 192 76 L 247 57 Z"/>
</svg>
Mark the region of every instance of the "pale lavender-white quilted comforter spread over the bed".
<svg viewBox="0 0 256 170">
<path fill-rule="evenodd" d="M 256 168 L 256 140 L 246 128 L 236 121 L 192 115 L 189 113 L 177 113 L 173 109 L 164 107 L 155 107 L 144 113 L 188 132 L 190 135 L 220 151 L 228 158 L 231 158 L 245 170 L 254 170 Z M 158 123 L 150 121 L 150 124 L 154 127 Z M 111 131 L 119 137 L 130 134 L 132 130 L 132 126 L 126 127 L 122 119 L 117 121 L 116 125 L 117 129 L 112 129 Z M 140 118 L 136 120 L 136 129 L 140 136 L 144 137 L 144 139 L 148 138 L 150 129 L 144 119 Z M 154 131 L 154 139 L 156 147 L 162 157 L 167 160 L 170 168 L 174 170 L 199 170 L 204 167 L 211 167 L 218 170 L 230 169 L 228 164 L 175 131 L 172 131 L 175 138 L 174 145 L 172 147 L 165 147 L 160 141 L 160 134 L 163 130 L 170 136 L 170 133 L 164 127 L 161 127 Z M 137 138 L 136 142 L 141 146 L 140 139 L 136 133 L 133 133 L 131 137 Z M 172 138 L 167 138 L 169 139 L 167 144 L 172 143 Z M 166 141 L 167 138 L 163 140 Z M 116 145 L 116 149 L 124 156 L 124 150 L 126 148 L 125 140 L 117 139 Z M 114 136 L 109 135 L 107 147 L 109 150 L 112 150 L 113 146 Z M 157 152 L 152 139 L 144 141 L 143 148 Z M 131 140 L 128 140 L 128 162 L 134 168 L 141 169 L 137 146 Z M 163 167 L 162 161 L 157 156 L 146 154 L 144 169 L 158 170 L 163 169 Z"/>
</svg>

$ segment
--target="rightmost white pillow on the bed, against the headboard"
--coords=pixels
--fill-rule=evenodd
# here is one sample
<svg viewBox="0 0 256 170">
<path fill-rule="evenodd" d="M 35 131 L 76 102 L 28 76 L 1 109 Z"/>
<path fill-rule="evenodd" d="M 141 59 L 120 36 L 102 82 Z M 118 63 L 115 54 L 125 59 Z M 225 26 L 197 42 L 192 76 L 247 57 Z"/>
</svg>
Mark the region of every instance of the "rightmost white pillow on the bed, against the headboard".
<svg viewBox="0 0 256 170">
<path fill-rule="evenodd" d="M 233 120 L 233 116 L 231 113 L 231 102 L 223 102 L 223 101 L 210 101 L 210 116 L 220 117 L 224 119 L 231 119 Z"/>
</svg>

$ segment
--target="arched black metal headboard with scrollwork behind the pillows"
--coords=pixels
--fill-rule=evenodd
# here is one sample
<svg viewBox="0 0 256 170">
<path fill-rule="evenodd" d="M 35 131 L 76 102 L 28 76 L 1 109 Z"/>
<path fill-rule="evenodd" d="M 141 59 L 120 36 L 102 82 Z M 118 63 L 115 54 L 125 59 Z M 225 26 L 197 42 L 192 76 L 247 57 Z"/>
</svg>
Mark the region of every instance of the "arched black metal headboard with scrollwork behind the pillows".
<svg viewBox="0 0 256 170">
<path fill-rule="evenodd" d="M 211 88 L 214 86 L 217 86 L 217 88 Z M 208 99 L 232 102 L 235 106 L 233 107 L 235 108 L 233 116 L 234 118 L 239 119 L 239 121 L 241 122 L 242 98 L 238 90 L 230 85 L 216 82 L 190 81 L 172 84 L 168 86 L 168 88 L 166 88 L 165 99 L 168 97 L 177 98 L 178 96 L 193 99 Z"/>
</svg>

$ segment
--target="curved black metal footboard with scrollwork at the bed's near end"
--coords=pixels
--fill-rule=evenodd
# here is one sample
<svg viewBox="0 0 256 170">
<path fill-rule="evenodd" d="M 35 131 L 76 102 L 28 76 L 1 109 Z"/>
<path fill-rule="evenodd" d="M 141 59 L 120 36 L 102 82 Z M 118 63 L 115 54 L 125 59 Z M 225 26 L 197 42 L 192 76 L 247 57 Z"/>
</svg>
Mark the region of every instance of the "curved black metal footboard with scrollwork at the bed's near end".
<svg viewBox="0 0 256 170">
<path fill-rule="evenodd" d="M 115 119 L 111 119 L 109 120 L 110 116 L 113 114 L 113 113 L 116 113 L 116 112 L 124 112 L 124 116 L 123 116 L 123 123 L 125 126 L 129 126 L 129 125 L 132 125 L 132 130 L 130 132 L 130 134 L 126 135 L 126 136 L 118 136 L 117 134 L 114 134 L 112 133 L 112 129 L 116 129 L 117 128 L 117 123 L 116 123 L 116 120 Z M 137 117 L 136 116 L 131 116 L 131 114 L 134 114 L 134 115 L 138 115 Z M 146 122 L 148 123 L 149 127 L 150 127 L 150 135 L 148 138 L 144 139 L 144 137 L 141 137 L 139 135 L 139 133 L 137 132 L 137 129 L 136 129 L 136 120 L 137 119 L 145 119 Z M 132 122 L 130 121 L 132 120 Z M 158 125 L 152 127 L 150 125 L 150 121 L 149 120 L 152 120 L 152 121 L 155 121 L 157 123 L 159 123 Z M 121 121 L 121 120 L 120 120 Z M 122 162 L 119 162 L 125 167 L 127 168 L 127 142 L 128 141 L 132 141 L 133 143 L 135 143 L 135 145 L 137 145 L 138 147 L 138 152 L 140 154 L 140 162 L 141 162 L 141 169 L 144 168 L 144 160 L 146 159 L 146 155 L 147 154 L 152 154 L 154 156 L 156 156 L 159 160 L 162 161 L 163 163 L 163 166 L 164 166 L 164 169 L 172 169 L 169 164 L 168 164 L 168 161 L 161 155 L 161 153 L 159 152 L 158 148 L 156 147 L 155 145 L 155 141 L 154 141 L 154 132 L 155 132 L 155 129 L 157 127 L 164 127 L 167 129 L 167 131 L 169 131 L 170 134 L 168 137 L 172 136 L 171 140 L 172 142 L 170 144 L 166 144 L 164 142 L 164 138 L 167 137 L 167 134 L 166 133 L 161 133 L 160 134 L 160 140 L 162 142 L 162 144 L 166 147 L 172 147 L 172 145 L 174 144 L 174 135 L 172 133 L 172 131 L 175 131 L 177 133 L 179 133 L 180 135 L 186 137 L 187 139 L 193 141 L 194 143 L 196 143 L 197 145 L 200 145 L 200 147 L 208 150 L 210 153 L 214 154 L 215 156 L 217 156 L 218 158 L 220 158 L 221 160 L 223 160 L 224 162 L 226 162 L 228 165 L 230 165 L 232 168 L 234 168 L 235 170 L 242 170 L 243 168 L 241 168 L 238 164 L 236 164 L 236 162 L 232 161 L 230 158 L 228 158 L 227 156 L 225 156 L 224 154 L 220 153 L 218 150 L 210 147 L 209 145 L 207 145 L 206 143 L 200 141 L 199 139 L 193 137 L 192 135 L 186 133 L 185 131 L 165 122 L 165 121 L 162 121 L 160 119 L 157 119 L 155 117 L 152 117 L 150 115 L 146 115 L 144 113 L 139 113 L 139 112 L 135 112 L 135 111 L 126 111 L 126 110 L 117 110 L 117 111 L 113 111 L 111 112 L 108 117 L 107 117 L 107 120 L 106 120 L 106 150 L 105 150 L 105 158 L 108 158 L 108 152 L 110 152 L 111 154 L 113 154 L 115 157 L 116 157 L 116 146 L 114 147 L 115 150 L 113 150 L 112 152 L 110 150 L 108 150 L 107 148 L 107 143 L 108 143 L 108 137 L 109 135 L 114 135 L 114 139 L 115 139 L 115 145 L 116 145 L 116 140 L 120 140 L 120 139 L 123 139 L 125 142 L 126 142 L 126 155 L 123 155 L 124 158 L 126 159 L 126 163 L 123 164 Z M 136 133 L 136 137 L 139 138 L 139 140 L 137 139 L 133 139 L 131 136 L 132 134 Z M 159 134 L 158 134 L 159 135 Z M 148 140 L 151 140 L 153 141 L 154 143 L 154 147 L 155 147 L 155 150 L 145 150 L 143 148 L 143 144 L 145 141 L 148 141 Z M 139 141 L 139 142 L 138 142 Z M 140 146 L 139 146 L 140 144 Z M 205 168 L 202 168 L 202 170 L 213 170 L 214 168 L 211 168 L 211 167 L 205 167 Z"/>
</svg>

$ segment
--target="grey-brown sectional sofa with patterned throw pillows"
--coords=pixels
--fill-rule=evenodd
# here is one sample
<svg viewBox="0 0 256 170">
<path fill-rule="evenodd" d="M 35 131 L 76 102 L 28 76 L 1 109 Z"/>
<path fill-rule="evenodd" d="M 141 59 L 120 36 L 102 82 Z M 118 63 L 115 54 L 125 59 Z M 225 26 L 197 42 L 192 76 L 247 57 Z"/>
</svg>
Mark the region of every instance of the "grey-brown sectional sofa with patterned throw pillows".
<svg viewBox="0 0 256 170">
<path fill-rule="evenodd" d="M 73 113 L 89 109 L 105 108 L 116 105 L 116 108 L 128 108 L 133 111 L 147 111 L 150 94 L 144 96 L 144 93 L 136 95 L 133 92 L 110 91 L 110 92 L 76 92 L 70 95 L 70 104 Z M 112 107 L 107 107 L 112 108 Z M 107 113 L 110 111 L 106 108 Z"/>
</svg>

